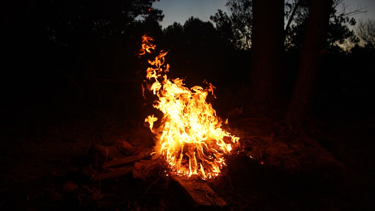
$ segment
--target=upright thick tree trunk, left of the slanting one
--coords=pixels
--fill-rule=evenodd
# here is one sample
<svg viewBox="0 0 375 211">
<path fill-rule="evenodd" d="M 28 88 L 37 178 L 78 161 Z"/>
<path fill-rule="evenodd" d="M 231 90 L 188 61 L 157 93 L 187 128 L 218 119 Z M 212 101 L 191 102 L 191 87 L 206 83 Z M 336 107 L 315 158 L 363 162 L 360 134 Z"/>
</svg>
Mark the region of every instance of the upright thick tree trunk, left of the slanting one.
<svg viewBox="0 0 375 211">
<path fill-rule="evenodd" d="M 284 58 L 284 1 L 253 0 L 251 103 L 245 112 L 278 113 Z"/>
</svg>

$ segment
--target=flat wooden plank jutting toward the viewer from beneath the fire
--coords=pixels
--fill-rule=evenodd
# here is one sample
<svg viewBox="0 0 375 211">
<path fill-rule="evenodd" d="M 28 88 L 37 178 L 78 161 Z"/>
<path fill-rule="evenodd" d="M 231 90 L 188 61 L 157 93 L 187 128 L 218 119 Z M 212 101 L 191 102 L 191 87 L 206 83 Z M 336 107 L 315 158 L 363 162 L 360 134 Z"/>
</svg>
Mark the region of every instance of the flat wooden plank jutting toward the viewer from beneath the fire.
<svg viewBox="0 0 375 211">
<path fill-rule="evenodd" d="M 226 202 L 217 196 L 217 194 L 204 181 L 190 180 L 186 178 L 174 177 L 175 181 L 190 196 L 195 207 L 198 206 L 219 206 L 225 207 Z"/>
</svg>

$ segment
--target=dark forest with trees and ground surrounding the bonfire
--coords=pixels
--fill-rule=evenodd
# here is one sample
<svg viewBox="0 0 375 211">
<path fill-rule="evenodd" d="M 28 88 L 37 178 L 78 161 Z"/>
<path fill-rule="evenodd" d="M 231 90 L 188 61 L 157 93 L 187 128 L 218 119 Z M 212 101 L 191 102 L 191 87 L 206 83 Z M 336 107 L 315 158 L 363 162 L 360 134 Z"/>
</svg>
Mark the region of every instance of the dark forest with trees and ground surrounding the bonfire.
<svg viewBox="0 0 375 211">
<path fill-rule="evenodd" d="M 375 20 L 353 18 L 366 7 L 228 0 L 211 21 L 162 28 L 155 1 L 0 3 L 1 210 L 374 208 Z M 140 55 L 144 35 L 156 49 Z M 145 81 L 159 52 L 169 77 L 215 87 L 205 101 L 239 137 L 204 181 L 225 205 L 190 200 L 165 160 L 141 179 L 95 181 L 115 160 L 156 162 L 145 118 L 163 112 Z"/>
</svg>

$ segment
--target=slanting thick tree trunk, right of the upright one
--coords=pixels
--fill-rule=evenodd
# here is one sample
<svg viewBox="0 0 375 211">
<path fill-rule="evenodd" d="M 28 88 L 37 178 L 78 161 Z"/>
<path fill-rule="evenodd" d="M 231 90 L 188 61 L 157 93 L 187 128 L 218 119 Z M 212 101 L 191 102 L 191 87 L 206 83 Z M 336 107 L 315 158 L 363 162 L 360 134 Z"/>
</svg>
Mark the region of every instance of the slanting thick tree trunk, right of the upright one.
<svg viewBox="0 0 375 211">
<path fill-rule="evenodd" d="M 311 0 L 309 18 L 306 26 L 301 60 L 293 96 L 290 101 L 286 120 L 298 127 L 312 117 L 318 72 L 326 52 L 327 31 L 332 0 Z"/>
</svg>

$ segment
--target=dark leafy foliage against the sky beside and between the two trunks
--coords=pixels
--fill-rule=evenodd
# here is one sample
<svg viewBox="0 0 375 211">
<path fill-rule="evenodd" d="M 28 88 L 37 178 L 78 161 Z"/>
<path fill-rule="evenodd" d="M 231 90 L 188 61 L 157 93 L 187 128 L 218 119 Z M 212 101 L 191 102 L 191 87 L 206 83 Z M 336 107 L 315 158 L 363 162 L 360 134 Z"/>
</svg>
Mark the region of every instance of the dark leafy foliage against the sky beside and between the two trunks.
<svg viewBox="0 0 375 211">
<path fill-rule="evenodd" d="M 303 32 L 309 12 L 309 0 L 287 0 L 285 2 L 285 48 L 286 50 L 300 50 Z M 216 24 L 225 44 L 241 50 L 251 48 L 252 34 L 252 1 L 228 0 L 226 3 L 229 14 L 218 10 L 210 19 Z M 340 9 L 338 11 L 337 9 Z M 343 0 L 335 0 L 332 5 L 330 27 L 327 37 L 328 50 L 343 52 L 346 47 L 356 44 L 356 37 L 350 26 L 356 24 L 351 15 L 366 12 L 366 8 L 348 9 Z"/>
</svg>

